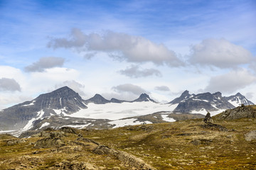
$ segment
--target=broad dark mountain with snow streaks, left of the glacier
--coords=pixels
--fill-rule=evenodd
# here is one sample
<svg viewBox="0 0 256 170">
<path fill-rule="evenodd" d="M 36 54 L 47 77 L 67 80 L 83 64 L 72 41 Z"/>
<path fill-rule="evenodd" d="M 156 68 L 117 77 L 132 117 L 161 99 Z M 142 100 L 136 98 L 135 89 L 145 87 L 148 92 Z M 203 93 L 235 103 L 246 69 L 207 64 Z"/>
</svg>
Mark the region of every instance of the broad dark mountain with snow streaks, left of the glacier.
<svg viewBox="0 0 256 170">
<path fill-rule="evenodd" d="M 32 123 L 50 115 L 69 115 L 85 108 L 87 106 L 79 94 L 64 86 L 1 111 L 0 130 L 17 130 L 24 128 L 29 121 Z"/>
</svg>

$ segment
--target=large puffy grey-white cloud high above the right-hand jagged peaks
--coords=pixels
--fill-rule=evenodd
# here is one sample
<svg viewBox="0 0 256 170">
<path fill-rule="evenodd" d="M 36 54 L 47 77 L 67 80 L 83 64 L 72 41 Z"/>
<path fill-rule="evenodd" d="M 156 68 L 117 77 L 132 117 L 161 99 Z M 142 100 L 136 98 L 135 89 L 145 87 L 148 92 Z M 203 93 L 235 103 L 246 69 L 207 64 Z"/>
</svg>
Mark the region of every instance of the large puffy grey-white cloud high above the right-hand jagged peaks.
<svg viewBox="0 0 256 170">
<path fill-rule="evenodd" d="M 191 47 L 192 64 L 203 64 L 219 68 L 237 67 L 248 64 L 252 54 L 245 48 L 234 45 L 225 39 L 206 39 Z"/>
</svg>

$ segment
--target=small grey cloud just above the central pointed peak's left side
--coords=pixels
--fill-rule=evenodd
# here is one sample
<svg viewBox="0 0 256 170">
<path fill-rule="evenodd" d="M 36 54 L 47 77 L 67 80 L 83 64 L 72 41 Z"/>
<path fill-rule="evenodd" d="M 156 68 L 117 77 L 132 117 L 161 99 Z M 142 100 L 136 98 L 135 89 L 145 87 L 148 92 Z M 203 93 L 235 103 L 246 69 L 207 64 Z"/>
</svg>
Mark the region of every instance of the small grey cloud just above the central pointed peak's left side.
<svg viewBox="0 0 256 170">
<path fill-rule="evenodd" d="M 121 85 L 112 87 L 112 89 L 120 93 L 127 92 L 130 94 L 136 94 L 136 95 L 149 93 L 149 92 L 146 92 L 144 89 L 142 89 L 142 87 L 134 84 L 121 84 Z"/>
</svg>

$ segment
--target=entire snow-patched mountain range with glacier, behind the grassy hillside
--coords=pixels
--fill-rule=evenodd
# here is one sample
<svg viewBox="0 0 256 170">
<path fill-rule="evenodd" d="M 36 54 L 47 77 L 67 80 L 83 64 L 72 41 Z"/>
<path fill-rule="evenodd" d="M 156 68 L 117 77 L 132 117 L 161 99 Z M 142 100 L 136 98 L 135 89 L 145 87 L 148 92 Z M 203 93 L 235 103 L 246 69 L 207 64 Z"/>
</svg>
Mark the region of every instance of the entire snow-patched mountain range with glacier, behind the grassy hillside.
<svg viewBox="0 0 256 170">
<path fill-rule="evenodd" d="M 78 93 L 64 86 L 41 94 L 32 101 L 0 111 L 0 130 L 18 130 L 20 134 L 26 130 L 60 128 L 65 125 L 75 128 L 117 128 L 124 125 L 175 121 L 177 118 L 172 117 L 173 113 L 220 113 L 241 104 L 253 103 L 240 93 L 223 97 L 220 92 L 189 94 L 188 91 L 165 104 L 157 103 L 147 94 L 141 94 L 134 101 L 117 98 L 109 101 L 100 94 L 84 100 Z M 145 119 L 144 115 L 151 116 Z M 193 115 L 198 118 L 198 115 Z"/>
</svg>

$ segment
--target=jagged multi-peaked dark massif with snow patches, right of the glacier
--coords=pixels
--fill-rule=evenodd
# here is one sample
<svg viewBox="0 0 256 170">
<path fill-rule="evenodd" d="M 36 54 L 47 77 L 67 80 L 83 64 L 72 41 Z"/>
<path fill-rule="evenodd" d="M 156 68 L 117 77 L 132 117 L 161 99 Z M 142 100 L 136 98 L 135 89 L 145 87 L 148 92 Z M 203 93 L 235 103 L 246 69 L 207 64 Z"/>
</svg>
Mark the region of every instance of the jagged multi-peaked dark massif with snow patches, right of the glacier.
<svg viewBox="0 0 256 170">
<path fill-rule="evenodd" d="M 220 92 L 189 94 L 188 91 L 184 91 L 180 97 L 175 98 L 169 104 L 178 104 L 174 109 L 175 112 L 205 113 L 235 108 L 241 104 L 252 105 L 253 103 L 239 93 L 235 96 L 223 97 Z"/>
</svg>

